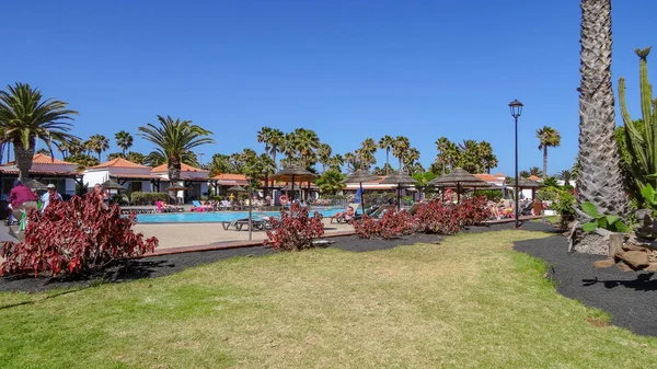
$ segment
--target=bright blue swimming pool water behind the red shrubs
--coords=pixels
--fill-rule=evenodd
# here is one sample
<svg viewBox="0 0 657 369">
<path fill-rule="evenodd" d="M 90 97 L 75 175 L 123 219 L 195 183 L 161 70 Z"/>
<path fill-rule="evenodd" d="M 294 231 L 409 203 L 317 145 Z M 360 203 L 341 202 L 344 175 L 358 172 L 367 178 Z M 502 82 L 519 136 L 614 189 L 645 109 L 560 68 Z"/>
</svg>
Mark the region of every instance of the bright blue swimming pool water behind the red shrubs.
<svg viewBox="0 0 657 369">
<path fill-rule="evenodd" d="M 343 209 L 319 210 L 324 217 L 331 217 Z M 253 218 L 280 217 L 279 211 L 253 211 Z M 139 214 L 137 221 L 140 223 L 204 223 L 231 221 L 249 218 L 249 211 L 206 211 L 206 212 L 165 212 L 165 214 Z"/>
</svg>

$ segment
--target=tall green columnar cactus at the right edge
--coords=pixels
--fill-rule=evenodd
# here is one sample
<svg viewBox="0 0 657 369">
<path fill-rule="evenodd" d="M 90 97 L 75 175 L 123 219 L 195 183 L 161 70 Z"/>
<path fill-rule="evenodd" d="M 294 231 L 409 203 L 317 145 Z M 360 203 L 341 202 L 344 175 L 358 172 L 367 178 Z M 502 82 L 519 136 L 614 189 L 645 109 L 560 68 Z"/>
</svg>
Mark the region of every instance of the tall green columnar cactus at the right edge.
<svg viewBox="0 0 657 369">
<path fill-rule="evenodd" d="M 647 57 L 650 47 L 635 49 L 639 58 L 639 85 L 642 120 L 632 120 L 625 102 L 625 79 L 619 79 L 621 115 L 625 124 L 625 142 L 630 155 L 630 170 L 639 191 L 657 188 L 657 99 L 653 99 L 653 85 L 648 82 Z"/>
</svg>

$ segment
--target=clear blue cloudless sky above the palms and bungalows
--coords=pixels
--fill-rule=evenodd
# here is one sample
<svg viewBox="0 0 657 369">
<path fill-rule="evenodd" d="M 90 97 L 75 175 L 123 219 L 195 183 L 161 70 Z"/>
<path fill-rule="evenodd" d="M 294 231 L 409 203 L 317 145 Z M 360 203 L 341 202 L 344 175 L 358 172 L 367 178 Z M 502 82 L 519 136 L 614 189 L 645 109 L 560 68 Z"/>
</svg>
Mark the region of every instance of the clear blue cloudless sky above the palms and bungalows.
<svg viewBox="0 0 657 369">
<path fill-rule="evenodd" d="M 576 0 L 10 1 L 2 10 L 2 88 L 28 82 L 69 102 L 82 138 L 136 134 L 159 114 L 215 132 L 204 162 L 262 151 L 256 131 L 270 126 L 314 129 L 339 153 L 366 137 L 404 135 L 428 166 L 446 136 L 488 140 L 496 171 L 512 175 L 507 104 L 518 99 L 521 170 L 542 166 L 544 125 L 562 134 L 549 173 L 577 152 Z M 633 50 L 657 44 L 656 13 L 655 0 L 613 1 L 614 91 L 625 76 L 635 116 Z"/>
</svg>

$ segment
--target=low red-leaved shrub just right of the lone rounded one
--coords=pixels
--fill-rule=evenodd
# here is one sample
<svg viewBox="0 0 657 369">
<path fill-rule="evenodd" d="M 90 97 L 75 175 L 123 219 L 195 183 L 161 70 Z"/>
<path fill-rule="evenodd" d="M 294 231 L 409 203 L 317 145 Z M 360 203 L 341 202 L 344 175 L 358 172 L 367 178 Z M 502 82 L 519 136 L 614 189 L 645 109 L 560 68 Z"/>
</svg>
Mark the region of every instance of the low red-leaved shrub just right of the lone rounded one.
<svg viewBox="0 0 657 369">
<path fill-rule="evenodd" d="M 415 221 L 408 211 L 385 211 L 376 220 L 367 215 L 360 220 L 353 220 L 351 226 L 361 239 L 394 239 L 415 231 Z"/>
</svg>

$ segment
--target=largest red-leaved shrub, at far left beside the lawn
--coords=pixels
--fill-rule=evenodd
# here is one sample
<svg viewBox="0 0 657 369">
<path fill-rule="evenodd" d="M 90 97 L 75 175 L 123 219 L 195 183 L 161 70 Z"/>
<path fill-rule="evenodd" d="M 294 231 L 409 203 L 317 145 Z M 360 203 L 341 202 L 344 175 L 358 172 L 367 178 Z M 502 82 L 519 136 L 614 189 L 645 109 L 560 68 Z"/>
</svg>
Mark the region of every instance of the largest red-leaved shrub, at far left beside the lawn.
<svg viewBox="0 0 657 369">
<path fill-rule="evenodd" d="M 122 217 L 117 205 L 104 207 L 99 196 L 51 200 L 44 212 L 27 215 L 25 241 L 4 242 L 0 274 L 33 272 L 56 276 L 102 268 L 114 261 L 141 256 L 158 239 L 135 233 L 136 216 Z"/>
</svg>

